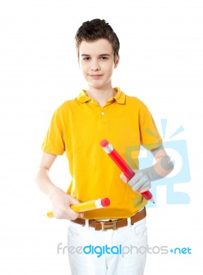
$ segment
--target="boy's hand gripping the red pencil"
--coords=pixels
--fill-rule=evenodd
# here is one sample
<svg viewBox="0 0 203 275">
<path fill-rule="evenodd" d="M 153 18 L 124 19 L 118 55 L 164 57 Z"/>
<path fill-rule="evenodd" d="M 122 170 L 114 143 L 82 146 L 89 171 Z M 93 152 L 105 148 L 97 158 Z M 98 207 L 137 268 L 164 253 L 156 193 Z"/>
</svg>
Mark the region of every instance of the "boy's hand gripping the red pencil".
<svg viewBox="0 0 203 275">
<path fill-rule="evenodd" d="M 129 186 L 131 186 L 135 192 L 142 193 L 149 190 L 149 188 L 151 188 L 151 179 L 147 173 L 147 169 L 133 171 L 136 175 L 134 175 L 129 181 L 124 173 L 120 175 L 120 179 L 122 179 L 125 184 L 128 182 Z"/>
</svg>

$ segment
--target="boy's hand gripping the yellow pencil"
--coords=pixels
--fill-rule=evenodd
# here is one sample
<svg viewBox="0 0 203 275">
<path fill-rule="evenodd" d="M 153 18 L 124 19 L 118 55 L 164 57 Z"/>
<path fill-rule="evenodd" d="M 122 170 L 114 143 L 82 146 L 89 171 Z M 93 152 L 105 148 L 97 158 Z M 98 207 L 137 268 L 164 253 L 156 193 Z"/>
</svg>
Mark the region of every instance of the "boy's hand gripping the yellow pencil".
<svg viewBox="0 0 203 275">
<path fill-rule="evenodd" d="M 76 213 L 70 208 L 72 204 L 80 203 L 80 201 L 68 195 L 60 188 L 54 188 L 54 192 L 52 192 L 50 199 L 52 201 L 52 211 L 55 218 L 74 220 L 84 216 L 84 212 Z"/>
</svg>

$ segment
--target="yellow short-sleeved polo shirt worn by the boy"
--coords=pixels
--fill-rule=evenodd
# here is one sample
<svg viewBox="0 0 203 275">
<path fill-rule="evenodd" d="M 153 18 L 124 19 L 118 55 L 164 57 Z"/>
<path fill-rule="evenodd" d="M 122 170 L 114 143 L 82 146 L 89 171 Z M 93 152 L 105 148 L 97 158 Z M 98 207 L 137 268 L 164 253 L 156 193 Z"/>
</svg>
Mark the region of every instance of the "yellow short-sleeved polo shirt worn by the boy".
<svg viewBox="0 0 203 275">
<path fill-rule="evenodd" d="M 140 144 L 149 150 L 162 144 L 145 104 L 118 87 L 114 90 L 116 96 L 104 107 L 85 90 L 74 100 L 65 101 L 56 109 L 42 145 L 46 153 L 66 153 L 72 175 L 68 194 L 81 202 L 110 199 L 110 206 L 85 212 L 85 219 L 131 217 L 147 204 L 120 179 L 121 171 L 100 147 L 101 140 L 108 140 L 133 169 L 138 169 Z"/>
</svg>

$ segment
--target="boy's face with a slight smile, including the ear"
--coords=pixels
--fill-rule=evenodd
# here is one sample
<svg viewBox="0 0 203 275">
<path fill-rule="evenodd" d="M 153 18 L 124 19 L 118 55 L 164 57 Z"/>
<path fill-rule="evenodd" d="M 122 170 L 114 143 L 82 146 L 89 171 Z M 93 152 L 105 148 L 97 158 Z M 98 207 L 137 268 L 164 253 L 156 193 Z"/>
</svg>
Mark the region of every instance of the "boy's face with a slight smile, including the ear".
<svg viewBox="0 0 203 275">
<path fill-rule="evenodd" d="M 79 65 L 89 87 L 108 89 L 111 76 L 118 66 L 119 56 L 114 61 L 114 50 L 107 39 L 94 42 L 82 41 L 79 47 Z"/>
</svg>

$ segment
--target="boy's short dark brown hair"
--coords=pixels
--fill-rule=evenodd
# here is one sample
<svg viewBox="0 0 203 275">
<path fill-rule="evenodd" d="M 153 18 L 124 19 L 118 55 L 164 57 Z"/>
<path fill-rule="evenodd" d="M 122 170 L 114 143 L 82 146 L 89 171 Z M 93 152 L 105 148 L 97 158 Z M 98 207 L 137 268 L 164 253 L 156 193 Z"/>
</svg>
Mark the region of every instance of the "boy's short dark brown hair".
<svg viewBox="0 0 203 275">
<path fill-rule="evenodd" d="M 118 36 L 111 28 L 109 23 L 105 20 L 93 19 L 92 21 L 86 21 L 78 28 L 76 32 L 75 41 L 76 41 L 76 50 L 78 52 L 79 58 L 79 47 L 82 41 L 93 42 L 98 39 L 107 39 L 111 43 L 114 50 L 114 60 L 118 56 L 120 43 Z"/>
</svg>

